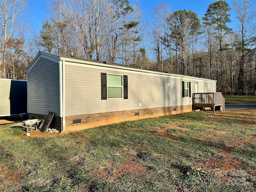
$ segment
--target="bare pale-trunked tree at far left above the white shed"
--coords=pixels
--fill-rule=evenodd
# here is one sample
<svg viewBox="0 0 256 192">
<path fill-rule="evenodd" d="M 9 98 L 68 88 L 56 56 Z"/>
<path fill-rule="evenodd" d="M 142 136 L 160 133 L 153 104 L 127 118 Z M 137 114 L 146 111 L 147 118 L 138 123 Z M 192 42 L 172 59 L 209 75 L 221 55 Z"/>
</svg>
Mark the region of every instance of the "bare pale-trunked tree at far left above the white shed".
<svg viewBox="0 0 256 192">
<path fill-rule="evenodd" d="M 7 78 L 6 65 L 8 49 L 13 48 L 14 36 L 21 23 L 24 22 L 23 14 L 28 6 L 26 0 L 1 0 L 1 58 L 0 78 Z"/>
</svg>

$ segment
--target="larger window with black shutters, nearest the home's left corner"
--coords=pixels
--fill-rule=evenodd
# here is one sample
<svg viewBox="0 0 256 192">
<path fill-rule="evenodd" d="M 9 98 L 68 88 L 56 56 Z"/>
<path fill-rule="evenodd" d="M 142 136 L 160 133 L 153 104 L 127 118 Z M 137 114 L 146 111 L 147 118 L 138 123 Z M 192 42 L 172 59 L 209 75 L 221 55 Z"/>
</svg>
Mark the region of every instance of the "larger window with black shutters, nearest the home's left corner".
<svg viewBox="0 0 256 192">
<path fill-rule="evenodd" d="M 101 99 L 128 99 L 126 75 L 101 73 Z"/>
</svg>

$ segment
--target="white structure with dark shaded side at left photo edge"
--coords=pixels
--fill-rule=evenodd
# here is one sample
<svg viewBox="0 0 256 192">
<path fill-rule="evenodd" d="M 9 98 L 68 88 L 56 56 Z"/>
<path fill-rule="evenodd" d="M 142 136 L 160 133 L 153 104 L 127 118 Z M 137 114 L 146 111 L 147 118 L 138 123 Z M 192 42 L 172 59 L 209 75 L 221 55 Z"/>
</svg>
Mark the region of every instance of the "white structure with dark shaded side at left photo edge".
<svg viewBox="0 0 256 192">
<path fill-rule="evenodd" d="M 27 112 L 27 81 L 0 79 L 0 117 Z"/>
</svg>

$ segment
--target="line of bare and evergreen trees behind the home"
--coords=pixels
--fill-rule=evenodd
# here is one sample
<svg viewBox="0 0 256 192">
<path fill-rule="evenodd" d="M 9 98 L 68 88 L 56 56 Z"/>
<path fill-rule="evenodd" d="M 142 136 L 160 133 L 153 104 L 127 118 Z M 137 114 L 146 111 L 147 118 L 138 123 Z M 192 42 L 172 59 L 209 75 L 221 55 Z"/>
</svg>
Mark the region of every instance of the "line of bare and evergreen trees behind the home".
<svg viewBox="0 0 256 192">
<path fill-rule="evenodd" d="M 27 0 L 2 0 L 0 78 L 26 79 L 38 51 L 217 80 L 217 91 L 256 94 L 256 4 L 224 0 L 205 15 L 128 0 L 51 0 L 40 32 L 28 32 Z M 230 15 L 234 28 L 228 27 Z"/>
</svg>

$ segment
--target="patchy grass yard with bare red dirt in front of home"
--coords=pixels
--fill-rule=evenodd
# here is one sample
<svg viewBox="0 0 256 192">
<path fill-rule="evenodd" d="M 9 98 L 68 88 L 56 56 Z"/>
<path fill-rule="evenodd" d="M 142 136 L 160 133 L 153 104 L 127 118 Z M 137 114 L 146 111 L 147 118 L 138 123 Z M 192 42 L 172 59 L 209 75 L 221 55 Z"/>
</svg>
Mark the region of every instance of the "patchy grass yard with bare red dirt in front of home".
<svg viewBox="0 0 256 192">
<path fill-rule="evenodd" d="M 70 134 L 0 126 L 0 191 L 256 192 L 256 109 Z"/>
</svg>

